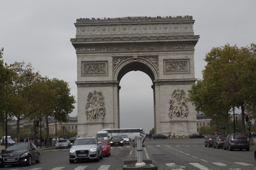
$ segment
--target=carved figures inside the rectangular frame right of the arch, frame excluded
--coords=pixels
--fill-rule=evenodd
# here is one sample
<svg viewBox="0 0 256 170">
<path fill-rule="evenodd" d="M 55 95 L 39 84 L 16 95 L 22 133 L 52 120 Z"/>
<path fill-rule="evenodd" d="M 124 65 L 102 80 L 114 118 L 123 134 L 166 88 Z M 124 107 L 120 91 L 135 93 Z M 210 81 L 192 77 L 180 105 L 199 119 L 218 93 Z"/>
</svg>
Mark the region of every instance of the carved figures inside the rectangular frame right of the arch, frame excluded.
<svg viewBox="0 0 256 170">
<path fill-rule="evenodd" d="M 189 71 L 188 60 L 186 61 L 166 61 L 165 72 L 170 71 Z"/>
</svg>

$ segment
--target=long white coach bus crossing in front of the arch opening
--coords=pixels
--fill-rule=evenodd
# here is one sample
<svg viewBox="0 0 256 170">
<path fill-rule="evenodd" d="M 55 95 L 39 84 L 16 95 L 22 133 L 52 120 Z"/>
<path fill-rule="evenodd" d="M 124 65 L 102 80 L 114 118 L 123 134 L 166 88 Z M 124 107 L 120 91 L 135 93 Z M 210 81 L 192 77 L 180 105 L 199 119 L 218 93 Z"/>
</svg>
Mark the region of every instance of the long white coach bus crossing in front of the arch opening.
<svg viewBox="0 0 256 170">
<path fill-rule="evenodd" d="M 143 128 L 131 128 L 131 129 L 102 129 L 108 131 L 109 139 L 112 137 L 120 136 L 120 135 L 128 135 L 130 138 L 134 138 L 135 136 L 143 136 L 143 142 L 145 140 L 146 134 Z"/>
</svg>

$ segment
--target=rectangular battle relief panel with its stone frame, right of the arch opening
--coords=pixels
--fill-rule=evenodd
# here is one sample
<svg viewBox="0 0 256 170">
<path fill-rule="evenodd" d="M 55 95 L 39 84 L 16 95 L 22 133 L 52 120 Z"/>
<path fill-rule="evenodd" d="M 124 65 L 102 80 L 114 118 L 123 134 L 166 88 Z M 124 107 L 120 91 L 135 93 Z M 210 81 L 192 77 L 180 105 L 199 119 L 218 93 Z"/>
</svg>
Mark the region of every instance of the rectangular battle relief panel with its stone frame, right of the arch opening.
<svg viewBox="0 0 256 170">
<path fill-rule="evenodd" d="M 164 60 L 164 74 L 190 73 L 189 59 Z"/>
</svg>

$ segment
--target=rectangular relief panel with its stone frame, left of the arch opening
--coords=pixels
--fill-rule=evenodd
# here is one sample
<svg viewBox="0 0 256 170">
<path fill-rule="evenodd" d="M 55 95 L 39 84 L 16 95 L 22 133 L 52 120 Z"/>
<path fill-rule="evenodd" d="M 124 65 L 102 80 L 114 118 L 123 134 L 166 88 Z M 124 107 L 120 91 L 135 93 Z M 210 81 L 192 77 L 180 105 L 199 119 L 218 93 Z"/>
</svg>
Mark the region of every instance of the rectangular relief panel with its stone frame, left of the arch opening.
<svg viewBox="0 0 256 170">
<path fill-rule="evenodd" d="M 107 61 L 89 61 L 82 62 L 82 76 L 107 76 Z"/>
</svg>

